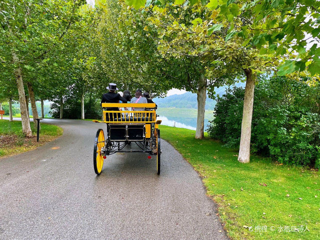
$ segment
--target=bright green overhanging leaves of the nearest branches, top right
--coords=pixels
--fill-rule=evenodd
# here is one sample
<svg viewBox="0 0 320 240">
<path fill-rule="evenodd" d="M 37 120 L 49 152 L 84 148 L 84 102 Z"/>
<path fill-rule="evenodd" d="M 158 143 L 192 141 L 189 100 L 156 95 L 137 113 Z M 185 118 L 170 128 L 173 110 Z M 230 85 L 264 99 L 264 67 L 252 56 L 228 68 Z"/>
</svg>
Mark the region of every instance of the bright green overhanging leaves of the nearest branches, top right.
<svg viewBox="0 0 320 240">
<path fill-rule="evenodd" d="M 129 5 L 134 4 L 135 7 L 142 7 L 145 1 L 139 2 L 139 5 L 135 0 L 126 0 L 126 2 Z M 174 4 L 179 5 L 182 2 L 175 1 Z M 187 5 L 193 6 L 196 2 L 199 1 L 186 1 L 182 7 L 185 10 Z M 152 3 L 158 8 L 159 6 L 174 7 L 174 4 L 167 0 L 154 0 Z M 274 65 L 284 64 L 279 68 L 279 75 L 304 71 L 306 67 L 308 73 L 303 74 L 318 77 L 320 73 L 320 67 L 318 67 L 320 51 L 317 44 L 320 37 L 319 1 L 209 0 L 209 2 L 201 1 L 201 4 L 212 12 L 211 19 L 205 21 L 206 15 L 202 14 L 196 22 L 203 22 L 203 25 L 209 29 L 212 27 L 210 26 L 212 22 L 222 23 L 227 31 L 225 41 L 238 36 L 243 38 L 243 46 L 246 49 L 257 48 L 260 51 L 260 57 L 277 56 L 272 63 Z M 150 3 L 147 4 L 149 5 Z M 165 8 L 161 11 L 168 14 Z M 170 12 L 172 14 L 172 11 Z M 177 13 L 177 9 L 174 12 Z M 180 16 L 176 21 L 180 20 Z M 184 15 L 183 18 L 188 20 L 189 16 Z M 181 25 L 181 28 L 183 27 L 184 25 Z M 208 31 L 208 35 L 211 32 L 211 30 Z M 187 33 L 190 34 L 190 31 Z M 279 61 L 281 58 L 282 60 L 289 59 L 290 63 Z"/>
</svg>

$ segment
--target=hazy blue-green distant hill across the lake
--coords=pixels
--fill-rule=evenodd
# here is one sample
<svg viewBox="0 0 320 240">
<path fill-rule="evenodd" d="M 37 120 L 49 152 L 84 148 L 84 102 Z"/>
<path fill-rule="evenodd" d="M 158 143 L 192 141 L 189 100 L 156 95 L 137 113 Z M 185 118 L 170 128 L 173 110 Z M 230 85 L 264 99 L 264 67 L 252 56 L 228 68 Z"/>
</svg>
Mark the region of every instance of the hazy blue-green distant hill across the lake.
<svg viewBox="0 0 320 240">
<path fill-rule="evenodd" d="M 234 84 L 235 86 L 245 86 L 244 82 L 237 82 Z M 231 86 L 233 87 L 233 86 Z M 222 96 L 225 93 L 225 90 L 228 86 L 220 86 L 215 89 L 215 95 Z M 170 96 L 166 96 L 163 98 L 155 97 L 153 101 L 158 105 L 158 107 L 176 107 L 176 108 L 197 108 L 196 102 L 196 93 L 192 93 L 190 91 L 185 92 L 183 94 L 174 94 Z M 207 96 L 205 102 L 206 110 L 213 110 L 216 101 L 209 98 Z"/>
</svg>

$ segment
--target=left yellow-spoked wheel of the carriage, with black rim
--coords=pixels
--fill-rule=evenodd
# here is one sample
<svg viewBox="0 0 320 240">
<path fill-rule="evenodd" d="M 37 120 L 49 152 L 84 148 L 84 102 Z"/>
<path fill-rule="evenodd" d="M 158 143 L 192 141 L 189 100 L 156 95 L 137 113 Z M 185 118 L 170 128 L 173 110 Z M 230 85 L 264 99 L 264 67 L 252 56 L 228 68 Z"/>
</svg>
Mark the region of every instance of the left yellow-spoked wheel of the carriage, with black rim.
<svg viewBox="0 0 320 240">
<path fill-rule="evenodd" d="M 100 174 L 103 166 L 103 155 L 101 154 L 101 148 L 104 146 L 104 132 L 102 129 L 98 129 L 95 134 L 93 145 L 93 167 L 96 174 Z"/>
</svg>

